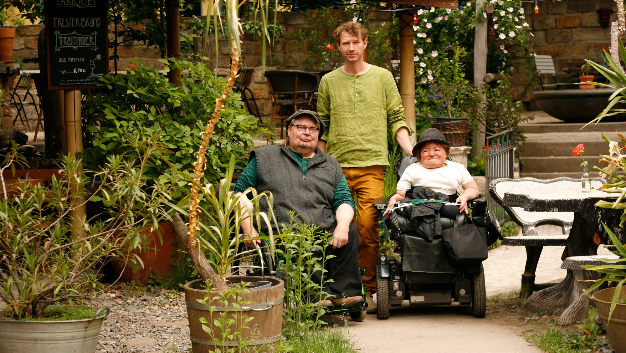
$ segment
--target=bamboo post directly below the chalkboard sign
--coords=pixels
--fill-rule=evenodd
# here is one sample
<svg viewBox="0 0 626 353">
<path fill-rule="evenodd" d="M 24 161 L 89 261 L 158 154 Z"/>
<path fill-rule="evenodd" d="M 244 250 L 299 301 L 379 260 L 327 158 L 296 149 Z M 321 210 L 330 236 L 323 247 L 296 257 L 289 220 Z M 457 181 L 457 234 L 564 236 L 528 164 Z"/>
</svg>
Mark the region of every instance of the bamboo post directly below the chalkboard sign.
<svg viewBox="0 0 626 353">
<path fill-rule="evenodd" d="M 80 90 L 64 90 L 63 91 L 63 103 L 64 103 L 64 115 L 65 115 L 65 136 L 67 153 L 69 156 L 74 156 L 76 152 L 83 151 L 83 129 L 81 126 L 81 100 Z M 74 204 L 83 203 L 83 199 L 79 198 Z M 83 233 L 83 227 L 81 227 L 81 221 L 85 217 L 85 205 L 81 205 L 71 211 L 71 215 L 74 218 L 72 220 L 74 235 L 80 237 Z"/>
</svg>

